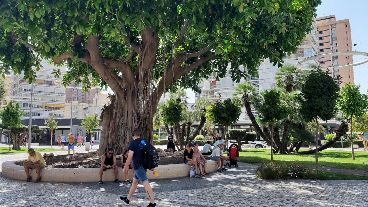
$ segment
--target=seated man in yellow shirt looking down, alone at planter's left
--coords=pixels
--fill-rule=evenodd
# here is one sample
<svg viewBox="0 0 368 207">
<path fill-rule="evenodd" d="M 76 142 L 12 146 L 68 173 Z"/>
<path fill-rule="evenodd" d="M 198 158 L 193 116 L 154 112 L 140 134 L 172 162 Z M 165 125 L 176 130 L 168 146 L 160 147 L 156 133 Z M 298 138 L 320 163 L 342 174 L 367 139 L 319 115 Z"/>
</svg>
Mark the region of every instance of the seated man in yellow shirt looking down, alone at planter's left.
<svg viewBox="0 0 368 207">
<path fill-rule="evenodd" d="M 37 179 L 36 183 L 40 182 L 41 180 L 41 168 L 44 168 L 46 166 L 46 161 L 43 159 L 41 153 L 35 152 L 32 148 L 28 149 L 28 159 L 24 163 L 24 170 L 27 175 L 26 182 L 29 182 L 32 180 L 32 177 L 29 176 L 29 169 L 36 169 L 37 173 Z"/>
</svg>

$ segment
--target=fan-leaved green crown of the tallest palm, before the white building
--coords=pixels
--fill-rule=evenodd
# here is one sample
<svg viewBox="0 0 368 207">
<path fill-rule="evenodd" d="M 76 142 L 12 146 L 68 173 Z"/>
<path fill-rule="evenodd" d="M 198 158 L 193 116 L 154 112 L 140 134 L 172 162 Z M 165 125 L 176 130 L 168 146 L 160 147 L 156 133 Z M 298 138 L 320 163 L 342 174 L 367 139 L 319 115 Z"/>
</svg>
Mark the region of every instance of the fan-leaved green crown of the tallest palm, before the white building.
<svg viewBox="0 0 368 207">
<path fill-rule="evenodd" d="M 276 73 L 276 86 L 287 92 L 301 90 L 307 74 L 292 64 L 286 64 Z"/>
</svg>

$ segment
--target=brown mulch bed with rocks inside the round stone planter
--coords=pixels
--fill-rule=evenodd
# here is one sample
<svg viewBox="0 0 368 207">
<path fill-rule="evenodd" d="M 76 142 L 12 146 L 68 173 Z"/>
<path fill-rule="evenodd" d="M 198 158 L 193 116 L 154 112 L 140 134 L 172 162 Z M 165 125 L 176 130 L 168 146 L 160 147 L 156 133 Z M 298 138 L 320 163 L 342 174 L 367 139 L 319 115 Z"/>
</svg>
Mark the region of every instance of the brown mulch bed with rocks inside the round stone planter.
<svg viewBox="0 0 368 207">
<path fill-rule="evenodd" d="M 166 152 L 167 153 L 167 152 Z M 101 157 L 94 154 L 93 157 L 84 158 L 83 155 L 86 153 L 79 153 L 79 157 L 75 158 L 75 161 L 68 161 L 72 155 L 57 155 L 53 157 L 45 157 L 46 167 L 45 168 L 99 168 L 101 164 Z M 170 153 L 167 153 L 170 154 Z M 204 156 L 206 159 L 210 159 Z M 184 164 L 183 156 L 178 157 L 160 157 L 160 165 L 169 164 Z M 118 166 L 121 167 L 120 159 L 116 159 Z M 15 164 L 24 166 L 24 161 L 16 162 Z"/>
</svg>

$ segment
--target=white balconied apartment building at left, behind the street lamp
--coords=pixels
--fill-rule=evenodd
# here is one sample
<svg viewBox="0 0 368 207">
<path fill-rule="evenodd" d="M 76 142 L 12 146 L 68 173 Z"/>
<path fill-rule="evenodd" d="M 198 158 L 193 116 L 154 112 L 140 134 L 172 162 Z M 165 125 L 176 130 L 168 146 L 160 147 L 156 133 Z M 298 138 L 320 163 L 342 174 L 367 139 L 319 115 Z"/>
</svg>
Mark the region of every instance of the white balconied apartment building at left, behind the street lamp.
<svg viewBox="0 0 368 207">
<path fill-rule="evenodd" d="M 46 60 L 42 61 L 42 68 L 36 71 L 36 81 L 33 83 L 33 97 L 41 100 L 32 101 L 32 119 L 47 119 L 50 115 L 62 119 L 65 117 L 65 88 L 57 86 L 54 81 L 61 80 L 66 73 L 66 67 L 54 66 Z M 54 69 L 60 69 L 61 76 L 55 78 Z M 10 96 L 31 97 L 31 84 L 24 79 L 24 74 L 11 74 L 13 83 L 10 86 Z M 14 101 L 20 104 L 25 112 L 21 119 L 29 119 L 31 102 Z"/>
</svg>

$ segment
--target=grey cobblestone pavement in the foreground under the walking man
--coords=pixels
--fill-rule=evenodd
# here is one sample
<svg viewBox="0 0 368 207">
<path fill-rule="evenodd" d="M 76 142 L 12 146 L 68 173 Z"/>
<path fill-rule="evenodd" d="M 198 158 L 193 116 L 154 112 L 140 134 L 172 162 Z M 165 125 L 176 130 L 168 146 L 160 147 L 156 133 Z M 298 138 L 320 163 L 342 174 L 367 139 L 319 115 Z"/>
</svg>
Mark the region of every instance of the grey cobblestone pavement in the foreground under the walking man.
<svg viewBox="0 0 368 207">
<path fill-rule="evenodd" d="M 151 181 L 158 206 L 368 206 L 368 183 L 357 180 L 259 180 L 256 165 L 239 162 L 238 168 L 204 178 Z M 119 196 L 130 184 L 25 183 L 0 176 L 0 206 L 124 206 Z M 362 197 L 365 196 L 365 197 Z M 146 206 L 138 185 L 130 206 Z"/>
</svg>

